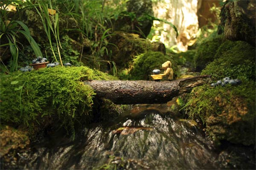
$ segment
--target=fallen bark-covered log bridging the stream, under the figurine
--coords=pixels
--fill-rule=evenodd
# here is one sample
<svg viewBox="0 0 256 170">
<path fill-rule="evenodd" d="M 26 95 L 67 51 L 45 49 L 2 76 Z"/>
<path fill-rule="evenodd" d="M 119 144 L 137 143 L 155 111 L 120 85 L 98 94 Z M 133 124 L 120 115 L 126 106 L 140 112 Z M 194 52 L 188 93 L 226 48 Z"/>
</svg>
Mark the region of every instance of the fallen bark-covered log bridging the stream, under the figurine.
<svg viewBox="0 0 256 170">
<path fill-rule="evenodd" d="M 173 81 L 84 81 L 96 93 L 96 97 L 110 99 L 115 104 L 166 103 L 173 97 L 188 93 L 193 87 L 209 82 L 209 76 L 189 77 Z"/>
</svg>

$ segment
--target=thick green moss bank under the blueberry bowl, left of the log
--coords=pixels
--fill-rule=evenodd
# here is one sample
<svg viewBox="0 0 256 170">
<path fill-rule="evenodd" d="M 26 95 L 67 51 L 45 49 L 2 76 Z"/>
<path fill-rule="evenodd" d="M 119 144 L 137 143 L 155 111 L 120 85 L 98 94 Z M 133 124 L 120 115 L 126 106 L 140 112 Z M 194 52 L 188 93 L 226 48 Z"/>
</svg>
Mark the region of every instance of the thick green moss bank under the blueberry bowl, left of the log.
<svg viewBox="0 0 256 170">
<path fill-rule="evenodd" d="M 1 75 L 1 123 L 35 128 L 54 121 L 74 130 L 75 124 L 86 124 L 92 118 L 95 93 L 81 82 L 91 79 L 116 78 L 83 66 Z"/>
</svg>

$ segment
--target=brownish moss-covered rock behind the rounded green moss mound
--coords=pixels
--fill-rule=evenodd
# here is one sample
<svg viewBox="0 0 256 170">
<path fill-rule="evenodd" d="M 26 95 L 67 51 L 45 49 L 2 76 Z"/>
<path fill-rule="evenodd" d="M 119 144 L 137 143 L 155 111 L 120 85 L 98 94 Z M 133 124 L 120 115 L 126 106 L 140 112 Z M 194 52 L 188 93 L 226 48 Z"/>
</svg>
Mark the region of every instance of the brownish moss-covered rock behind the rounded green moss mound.
<svg viewBox="0 0 256 170">
<path fill-rule="evenodd" d="M 114 44 L 114 45 L 113 45 Z M 129 68 L 135 56 L 147 51 L 166 53 L 163 43 L 151 43 L 137 34 L 115 31 L 107 46 L 106 60 L 114 61 L 117 68 Z"/>
</svg>

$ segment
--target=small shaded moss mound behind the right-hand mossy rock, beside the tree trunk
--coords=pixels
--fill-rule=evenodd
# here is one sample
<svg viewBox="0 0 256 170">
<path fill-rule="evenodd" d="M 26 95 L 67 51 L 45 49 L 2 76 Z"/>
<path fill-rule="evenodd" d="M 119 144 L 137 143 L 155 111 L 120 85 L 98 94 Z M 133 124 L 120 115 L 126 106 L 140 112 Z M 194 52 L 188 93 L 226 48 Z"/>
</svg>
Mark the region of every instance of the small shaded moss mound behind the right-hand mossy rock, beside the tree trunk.
<svg viewBox="0 0 256 170">
<path fill-rule="evenodd" d="M 215 59 L 216 50 L 222 43 L 222 37 L 206 39 L 198 45 L 197 52 L 195 54 L 195 70 L 203 70 L 207 63 L 212 62 Z"/>
</svg>

